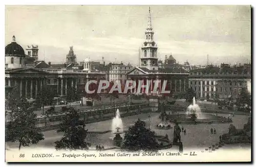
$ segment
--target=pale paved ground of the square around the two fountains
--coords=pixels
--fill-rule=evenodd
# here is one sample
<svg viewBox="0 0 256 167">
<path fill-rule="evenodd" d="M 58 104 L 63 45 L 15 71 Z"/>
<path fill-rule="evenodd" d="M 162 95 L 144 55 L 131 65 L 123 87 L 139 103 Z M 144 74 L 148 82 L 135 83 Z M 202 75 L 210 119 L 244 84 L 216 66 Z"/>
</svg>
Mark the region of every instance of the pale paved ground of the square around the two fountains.
<svg viewBox="0 0 256 167">
<path fill-rule="evenodd" d="M 167 111 L 168 113 L 168 111 Z M 180 112 L 180 114 L 184 114 Z M 165 135 L 167 134 L 169 136 L 170 140 L 173 140 L 173 128 L 168 130 L 163 129 L 156 129 L 156 125 L 161 123 L 159 119 L 159 113 L 151 113 L 150 118 L 150 127 L 153 131 L 155 131 L 158 135 Z M 228 117 L 229 114 L 219 114 L 219 116 Z M 146 126 L 148 127 L 148 114 L 141 114 L 141 115 L 135 115 L 135 116 L 129 116 L 122 118 L 123 122 L 123 128 L 124 130 L 127 130 L 130 126 L 134 125 L 136 120 L 140 118 L 140 120 L 144 121 L 146 123 Z M 248 116 L 244 115 L 235 115 L 232 117 L 233 125 L 236 126 L 237 129 L 242 129 L 244 124 L 247 123 Z M 102 121 L 97 123 L 91 123 L 87 124 L 86 128 L 89 130 L 87 141 L 91 143 L 92 147 L 91 149 L 95 149 L 96 145 L 104 146 L 104 148 L 111 148 L 113 147 L 111 137 L 113 137 L 113 134 L 111 132 L 99 134 L 98 132 L 108 131 L 111 130 L 112 120 L 108 121 Z M 173 127 L 174 124 L 170 123 L 170 125 Z M 183 126 L 186 129 L 186 135 L 184 133 L 181 133 L 181 141 L 183 143 L 183 149 L 191 149 L 191 148 L 207 148 L 208 146 L 215 144 L 219 142 L 219 136 L 223 133 L 228 132 L 229 123 L 224 124 L 197 124 L 197 125 L 180 125 Z M 216 128 L 217 133 L 211 134 L 210 128 Z M 63 133 L 57 133 L 56 130 L 52 131 L 46 131 L 43 132 L 45 135 L 45 140 L 40 141 L 37 145 L 31 145 L 30 147 L 36 147 L 36 149 L 48 147 L 48 148 L 54 148 L 55 144 L 54 142 L 57 140 L 60 140 L 60 138 L 63 136 Z M 10 149 L 15 149 L 18 147 L 18 143 L 7 143 L 8 147 Z M 232 146 L 230 146 L 232 147 Z"/>
</svg>

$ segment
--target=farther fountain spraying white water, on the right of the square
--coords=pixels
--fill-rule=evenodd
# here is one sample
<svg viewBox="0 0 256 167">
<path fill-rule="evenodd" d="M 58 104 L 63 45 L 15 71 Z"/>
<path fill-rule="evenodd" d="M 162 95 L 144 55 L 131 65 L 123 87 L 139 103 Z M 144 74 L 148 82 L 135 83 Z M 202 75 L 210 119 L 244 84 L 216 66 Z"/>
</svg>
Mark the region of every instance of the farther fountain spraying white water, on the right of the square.
<svg viewBox="0 0 256 167">
<path fill-rule="evenodd" d="M 186 115 L 191 118 L 192 121 L 196 119 L 203 119 L 201 109 L 199 105 L 196 103 L 196 98 L 193 97 L 193 104 L 190 104 L 187 107 Z"/>
</svg>

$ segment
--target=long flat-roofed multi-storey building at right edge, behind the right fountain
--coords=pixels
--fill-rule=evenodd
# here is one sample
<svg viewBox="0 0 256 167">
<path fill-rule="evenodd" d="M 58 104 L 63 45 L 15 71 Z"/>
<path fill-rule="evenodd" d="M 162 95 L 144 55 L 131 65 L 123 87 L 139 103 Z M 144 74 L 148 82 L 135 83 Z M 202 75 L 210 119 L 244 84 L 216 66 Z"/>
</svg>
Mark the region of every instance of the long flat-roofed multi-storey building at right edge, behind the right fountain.
<svg viewBox="0 0 256 167">
<path fill-rule="evenodd" d="M 189 71 L 189 87 L 197 98 L 237 99 L 242 88 L 251 92 L 251 66 L 208 66 Z"/>
</svg>

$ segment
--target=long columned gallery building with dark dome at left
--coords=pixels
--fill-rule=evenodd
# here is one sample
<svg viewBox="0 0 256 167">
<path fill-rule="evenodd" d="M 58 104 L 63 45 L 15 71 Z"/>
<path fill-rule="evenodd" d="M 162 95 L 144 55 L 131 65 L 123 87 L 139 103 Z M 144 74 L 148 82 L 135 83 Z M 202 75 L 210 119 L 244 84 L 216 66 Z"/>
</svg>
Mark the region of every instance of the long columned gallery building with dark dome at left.
<svg viewBox="0 0 256 167">
<path fill-rule="evenodd" d="M 13 41 L 5 47 L 6 95 L 16 86 L 20 96 L 33 100 L 38 91 L 42 90 L 44 85 L 48 85 L 56 98 L 65 98 L 70 87 L 76 87 L 78 93 L 83 94 L 84 86 L 89 80 L 105 79 L 106 71 L 92 69 L 89 59 L 84 60 L 82 65 L 77 65 L 74 61 L 76 59 L 73 59 L 75 55 L 73 47 L 70 47 L 70 50 L 69 53 L 73 56 L 71 59 L 67 55 L 69 58 L 67 63 L 51 64 L 49 62 L 47 64 L 45 61 L 36 61 L 26 55 L 13 36 Z M 34 54 L 31 53 L 31 55 Z"/>
</svg>

